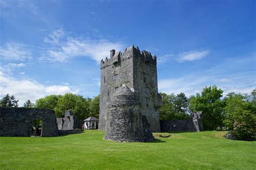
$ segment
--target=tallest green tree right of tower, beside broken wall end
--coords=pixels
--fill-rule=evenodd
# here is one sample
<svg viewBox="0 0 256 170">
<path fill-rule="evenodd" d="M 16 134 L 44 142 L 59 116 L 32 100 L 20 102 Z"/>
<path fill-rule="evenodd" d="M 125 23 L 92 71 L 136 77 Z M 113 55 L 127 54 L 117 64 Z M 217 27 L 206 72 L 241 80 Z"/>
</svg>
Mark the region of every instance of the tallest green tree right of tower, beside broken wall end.
<svg viewBox="0 0 256 170">
<path fill-rule="evenodd" d="M 205 87 L 196 96 L 190 97 L 190 110 L 202 111 L 202 121 L 204 129 L 218 130 L 223 128 L 223 120 L 225 114 L 223 111 L 224 102 L 221 101 L 223 90 L 218 89 L 216 86 Z"/>
</svg>

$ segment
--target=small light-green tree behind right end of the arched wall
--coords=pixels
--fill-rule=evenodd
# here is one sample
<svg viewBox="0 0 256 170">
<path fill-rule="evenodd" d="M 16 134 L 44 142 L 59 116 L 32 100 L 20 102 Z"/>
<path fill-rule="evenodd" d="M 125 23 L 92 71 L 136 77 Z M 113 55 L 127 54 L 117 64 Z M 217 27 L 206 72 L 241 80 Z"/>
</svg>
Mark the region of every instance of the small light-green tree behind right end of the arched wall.
<svg viewBox="0 0 256 170">
<path fill-rule="evenodd" d="M 49 95 L 43 98 L 39 98 L 36 101 L 35 108 L 43 108 L 43 109 L 55 109 L 57 106 L 58 100 L 61 95 Z"/>
</svg>

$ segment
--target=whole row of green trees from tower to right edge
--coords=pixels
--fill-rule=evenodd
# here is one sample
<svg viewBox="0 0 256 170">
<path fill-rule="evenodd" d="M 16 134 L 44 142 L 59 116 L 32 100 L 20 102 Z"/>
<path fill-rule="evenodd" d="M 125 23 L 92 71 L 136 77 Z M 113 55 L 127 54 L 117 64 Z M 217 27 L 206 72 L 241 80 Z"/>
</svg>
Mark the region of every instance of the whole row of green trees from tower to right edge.
<svg viewBox="0 0 256 170">
<path fill-rule="evenodd" d="M 216 86 L 205 87 L 201 94 L 187 98 L 184 93 L 160 93 L 163 105 L 160 119 L 186 119 L 191 112 L 202 111 L 205 130 L 230 130 L 238 139 L 250 140 L 256 132 L 256 89 L 248 94 L 229 93 Z"/>
</svg>

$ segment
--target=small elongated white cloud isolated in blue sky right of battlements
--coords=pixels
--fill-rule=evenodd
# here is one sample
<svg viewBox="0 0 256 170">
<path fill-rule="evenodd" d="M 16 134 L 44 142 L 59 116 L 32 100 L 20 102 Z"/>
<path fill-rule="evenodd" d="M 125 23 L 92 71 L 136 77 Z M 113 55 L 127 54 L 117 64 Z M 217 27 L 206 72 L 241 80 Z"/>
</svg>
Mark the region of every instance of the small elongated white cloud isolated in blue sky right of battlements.
<svg viewBox="0 0 256 170">
<path fill-rule="evenodd" d="M 210 53 L 209 50 L 205 51 L 190 51 L 190 52 L 183 52 L 178 54 L 178 61 L 193 61 L 193 60 L 199 60 L 204 58 L 208 53 Z"/>
</svg>

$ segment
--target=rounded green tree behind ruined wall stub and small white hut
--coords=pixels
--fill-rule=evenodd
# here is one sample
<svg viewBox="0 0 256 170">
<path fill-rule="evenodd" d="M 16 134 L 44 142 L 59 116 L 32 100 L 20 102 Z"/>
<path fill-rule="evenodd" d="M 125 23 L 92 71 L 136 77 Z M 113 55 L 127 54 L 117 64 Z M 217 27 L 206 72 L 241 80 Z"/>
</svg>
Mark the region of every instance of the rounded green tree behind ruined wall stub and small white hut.
<svg viewBox="0 0 256 170">
<path fill-rule="evenodd" d="M 89 100 L 80 95 L 65 94 L 59 98 L 54 108 L 56 117 L 64 117 L 65 110 L 71 109 L 79 121 L 89 116 Z"/>
</svg>

